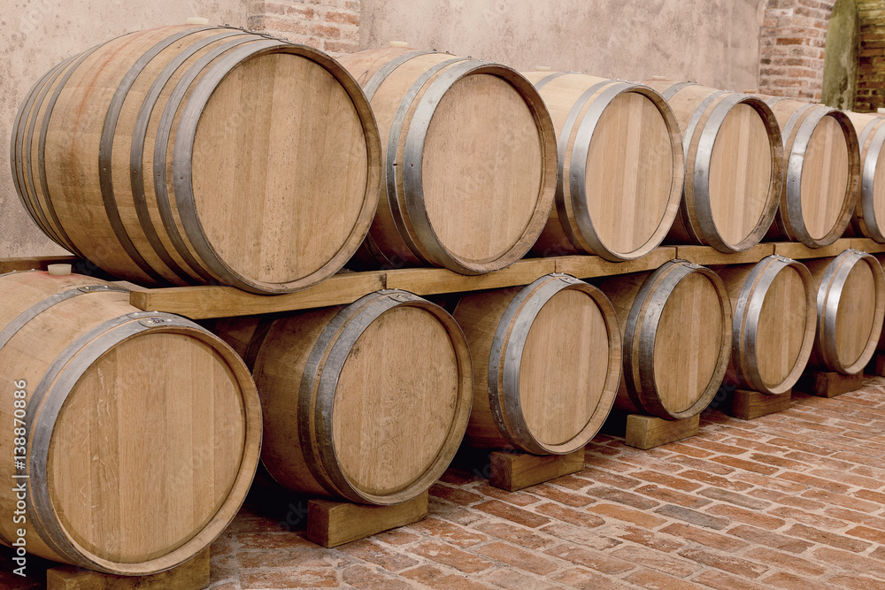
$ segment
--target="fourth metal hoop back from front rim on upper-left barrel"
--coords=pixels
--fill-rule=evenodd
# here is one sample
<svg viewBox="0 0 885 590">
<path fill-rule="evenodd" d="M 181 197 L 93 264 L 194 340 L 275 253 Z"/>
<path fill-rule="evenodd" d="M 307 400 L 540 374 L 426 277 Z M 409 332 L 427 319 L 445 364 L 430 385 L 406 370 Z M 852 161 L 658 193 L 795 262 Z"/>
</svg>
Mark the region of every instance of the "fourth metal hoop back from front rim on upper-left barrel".
<svg viewBox="0 0 885 590">
<path fill-rule="evenodd" d="M 108 104 L 108 110 L 104 116 L 101 140 L 98 142 L 98 182 L 102 192 L 104 213 L 108 218 L 108 222 L 111 224 L 114 235 L 117 236 L 119 245 L 126 251 L 129 259 L 132 260 L 132 262 L 134 262 L 144 274 L 149 276 L 150 279 L 155 280 L 158 283 L 163 283 L 165 278 L 162 274 L 154 270 L 150 263 L 142 257 L 141 252 L 138 251 L 135 244 L 132 242 L 132 239 L 129 237 L 126 226 L 123 225 L 123 220 L 119 215 L 116 196 L 114 195 L 113 190 L 112 152 L 114 133 L 117 130 L 119 113 L 123 109 L 123 102 L 127 98 L 129 89 L 132 88 L 132 85 L 135 84 L 135 80 L 141 75 L 150 61 L 174 42 L 178 42 L 191 34 L 196 34 L 211 28 L 212 27 L 191 28 L 172 34 L 166 37 L 163 41 L 156 43 L 150 48 L 150 50 L 145 51 L 142 56 L 135 60 L 135 64 L 129 68 L 127 73 L 123 76 L 123 79 L 120 80 L 119 86 L 111 98 L 111 103 Z"/>
</svg>

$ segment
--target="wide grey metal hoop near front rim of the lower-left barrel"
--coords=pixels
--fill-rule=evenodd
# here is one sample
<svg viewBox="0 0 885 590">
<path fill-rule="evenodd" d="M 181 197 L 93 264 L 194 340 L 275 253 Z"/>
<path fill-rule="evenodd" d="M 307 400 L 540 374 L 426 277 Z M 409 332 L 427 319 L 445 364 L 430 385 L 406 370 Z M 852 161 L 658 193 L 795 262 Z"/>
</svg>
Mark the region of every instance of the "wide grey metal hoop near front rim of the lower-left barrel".
<svg viewBox="0 0 885 590">
<path fill-rule="evenodd" d="M 114 573 L 85 558 L 68 539 L 55 517 L 46 472 L 50 440 L 58 414 L 68 395 L 89 367 L 120 342 L 159 326 L 199 329 L 199 326 L 187 319 L 152 311 L 131 313 L 104 322 L 82 334 L 56 358 L 27 404 L 28 416 L 36 417 L 36 421 L 32 418 L 28 422 L 26 434 L 30 447 L 28 467 L 31 494 L 27 498 L 29 514 L 35 515 L 39 523 L 35 529 L 47 546 L 59 556 L 65 556 L 70 563 L 90 570 Z"/>
</svg>

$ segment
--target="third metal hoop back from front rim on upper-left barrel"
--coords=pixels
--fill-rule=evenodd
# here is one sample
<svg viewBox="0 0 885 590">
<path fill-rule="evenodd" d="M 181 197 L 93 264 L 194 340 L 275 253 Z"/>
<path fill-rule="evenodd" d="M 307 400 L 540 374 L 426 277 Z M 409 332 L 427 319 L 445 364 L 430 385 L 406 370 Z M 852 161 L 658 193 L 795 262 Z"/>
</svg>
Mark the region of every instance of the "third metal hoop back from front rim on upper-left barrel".
<svg viewBox="0 0 885 590">
<path fill-rule="evenodd" d="M 165 249 L 163 241 L 159 239 L 157 229 L 150 218 L 150 211 L 148 211 L 147 196 L 144 194 L 144 142 L 148 133 L 150 117 L 157 106 L 160 93 L 181 65 L 184 65 L 190 57 L 195 56 L 197 52 L 203 50 L 214 42 L 244 34 L 246 33 L 243 31 L 225 31 L 224 33 L 212 35 L 211 37 L 205 37 L 204 39 L 189 45 L 185 50 L 182 50 L 181 53 L 165 65 L 153 84 L 150 85 L 150 89 L 144 96 L 141 110 L 138 111 L 138 116 L 135 119 L 135 128 L 132 133 L 132 146 L 129 150 L 129 171 L 132 196 L 133 201 L 135 202 L 135 215 L 138 217 L 138 221 L 142 226 L 142 233 L 145 238 L 147 238 L 150 247 L 154 250 L 163 264 L 165 264 L 173 274 L 186 283 L 197 282 L 194 275 L 200 278 L 204 277 L 201 277 L 196 271 L 188 272 L 182 269 Z"/>
</svg>

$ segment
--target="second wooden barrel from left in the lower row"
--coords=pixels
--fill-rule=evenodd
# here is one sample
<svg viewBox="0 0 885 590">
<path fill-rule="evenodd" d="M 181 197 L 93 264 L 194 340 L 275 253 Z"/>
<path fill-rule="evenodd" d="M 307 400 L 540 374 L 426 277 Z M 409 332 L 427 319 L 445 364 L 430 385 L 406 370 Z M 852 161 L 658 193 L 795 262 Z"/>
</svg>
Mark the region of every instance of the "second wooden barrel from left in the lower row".
<svg viewBox="0 0 885 590">
<path fill-rule="evenodd" d="M 387 505 L 449 466 L 470 416 L 464 334 L 397 290 L 347 307 L 230 319 L 213 328 L 254 367 L 262 464 L 283 487 Z"/>
</svg>

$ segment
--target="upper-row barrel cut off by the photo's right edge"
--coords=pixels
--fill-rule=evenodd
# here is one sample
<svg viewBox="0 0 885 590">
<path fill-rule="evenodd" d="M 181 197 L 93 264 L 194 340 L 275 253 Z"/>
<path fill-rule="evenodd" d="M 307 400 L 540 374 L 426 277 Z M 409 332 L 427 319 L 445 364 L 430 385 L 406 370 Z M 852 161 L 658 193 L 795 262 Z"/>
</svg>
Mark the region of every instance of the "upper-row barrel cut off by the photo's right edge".
<svg viewBox="0 0 885 590">
<path fill-rule="evenodd" d="M 885 117 L 845 111 L 858 134 L 860 193 L 851 229 L 857 235 L 885 242 Z"/>
</svg>

